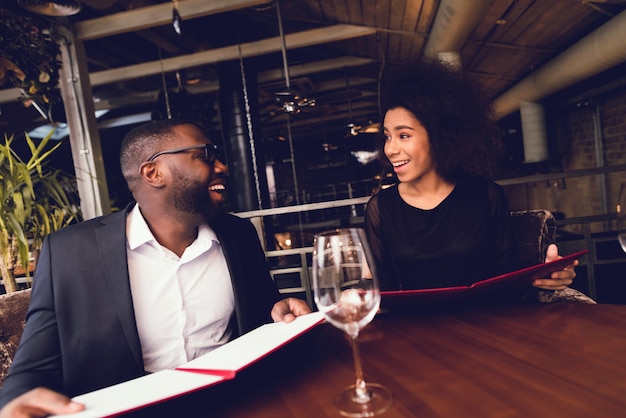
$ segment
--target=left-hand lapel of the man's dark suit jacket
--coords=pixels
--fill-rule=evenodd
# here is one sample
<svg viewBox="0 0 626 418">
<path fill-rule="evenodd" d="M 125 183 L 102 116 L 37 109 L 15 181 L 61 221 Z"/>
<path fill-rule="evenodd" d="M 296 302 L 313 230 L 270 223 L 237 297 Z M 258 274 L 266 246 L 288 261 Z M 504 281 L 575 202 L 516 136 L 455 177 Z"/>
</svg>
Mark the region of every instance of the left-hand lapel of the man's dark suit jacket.
<svg viewBox="0 0 626 418">
<path fill-rule="evenodd" d="M 128 208 L 132 208 L 132 206 L 129 205 L 127 210 L 116 212 L 104 218 L 103 225 L 94 233 L 110 290 L 110 297 L 116 306 L 126 341 L 137 364 L 143 370 L 141 343 L 135 321 L 126 256 L 126 214 Z"/>
</svg>

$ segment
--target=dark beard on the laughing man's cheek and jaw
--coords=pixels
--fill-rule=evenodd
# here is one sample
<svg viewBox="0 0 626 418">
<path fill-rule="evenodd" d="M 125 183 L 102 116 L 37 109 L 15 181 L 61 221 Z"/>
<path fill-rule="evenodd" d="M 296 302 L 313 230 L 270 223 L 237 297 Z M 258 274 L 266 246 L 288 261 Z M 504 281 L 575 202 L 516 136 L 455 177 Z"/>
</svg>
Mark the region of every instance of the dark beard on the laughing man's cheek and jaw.
<svg viewBox="0 0 626 418">
<path fill-rule="evenodd" d="M 181 175 L 176 169 L 171 172 L 174 176 L 174 207 L 196 218 L 199 224 L 213 219 L 218 209 L 209 196 L 207 185 Z"/>
</svg>

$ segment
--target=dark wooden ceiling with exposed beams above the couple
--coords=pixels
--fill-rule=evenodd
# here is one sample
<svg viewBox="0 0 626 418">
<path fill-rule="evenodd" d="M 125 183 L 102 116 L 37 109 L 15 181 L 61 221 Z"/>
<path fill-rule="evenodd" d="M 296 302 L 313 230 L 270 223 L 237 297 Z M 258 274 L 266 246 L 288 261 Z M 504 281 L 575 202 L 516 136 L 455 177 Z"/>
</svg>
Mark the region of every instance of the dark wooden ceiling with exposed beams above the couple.
<svg viewBox="0 0 626 418">
<path fill-rule="evenodd" d="M 618 0 L 283 0 L 283 56 L 273 2 L 179 0 L 181 34 L 172 25 L 172 1 L 81 3 L 82 10 L 67 20 L 84 42 L 96 108 L 109 110 L 100 119 L 103 126 L 152 112 L 164 82 L 174 93 L 180 85 L 217 109 L 220 74 L 240 71 L 243 62 L 249 86 L 258 80 L 262 135 L 276 138 L 287 135 L 287 119 L 297 137 L 346 133 L 348 123 L 376 122 L 380 74 L 442 52 L 441 45 L 452 48 L 444 52 L 458 52 L 464 71 L 497 100 L 626 9 L 626 1 Z M 467 4 L 466 23 L 450 24 Z M 298 114 L 282 112 L 276 100 L 286 88 L 283 58 L 290 87 L 315 102 Z M 229 70 L 220 66 L 224 62 Z M 254 98 L 257 91 L 248 93 Z M 6 130 L 43 122 L 14 104 L 0 108 Z"/>
</svg>

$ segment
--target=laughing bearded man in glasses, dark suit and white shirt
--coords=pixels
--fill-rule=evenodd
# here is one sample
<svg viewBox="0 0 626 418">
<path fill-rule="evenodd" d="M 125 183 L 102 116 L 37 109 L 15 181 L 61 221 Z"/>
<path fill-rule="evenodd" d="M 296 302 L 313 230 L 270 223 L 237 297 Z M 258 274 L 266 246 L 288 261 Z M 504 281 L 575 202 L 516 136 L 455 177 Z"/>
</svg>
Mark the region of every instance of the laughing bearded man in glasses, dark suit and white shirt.
<svg viewBox="0 0 626 418">
<path fill-rule="evenodd" d="M 68 397 L 310 312 L 280 298 L 252 224 L 207 193 L 226 167 L 200 129 L 149 122 L 120 154 L 136 204 L 45 239 L 1 417 L 82 410 Z"/>
</svg>

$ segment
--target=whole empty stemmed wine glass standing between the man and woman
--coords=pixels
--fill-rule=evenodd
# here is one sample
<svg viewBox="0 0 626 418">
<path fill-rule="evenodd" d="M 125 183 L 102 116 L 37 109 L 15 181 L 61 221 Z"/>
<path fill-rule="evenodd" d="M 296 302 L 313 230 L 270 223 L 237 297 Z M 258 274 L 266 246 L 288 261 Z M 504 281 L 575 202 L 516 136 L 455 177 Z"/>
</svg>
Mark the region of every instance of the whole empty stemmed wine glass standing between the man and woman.
<svg viewBox="0 0 626 418">
<path fill-rule="evenodd" d="M 391 406 L 391 392 L 366 383 L 359 356 L 359 331 L 376 315 L 380 290 L 371 250 L 361 228 L 344 228 L 315 235 L 313 290 L 315 303 L 328 322 L 350 337 L 356 384 L 335 398 L 335 407 L 348 417 L 371 417 Z"/>
</svg>

